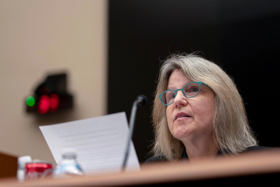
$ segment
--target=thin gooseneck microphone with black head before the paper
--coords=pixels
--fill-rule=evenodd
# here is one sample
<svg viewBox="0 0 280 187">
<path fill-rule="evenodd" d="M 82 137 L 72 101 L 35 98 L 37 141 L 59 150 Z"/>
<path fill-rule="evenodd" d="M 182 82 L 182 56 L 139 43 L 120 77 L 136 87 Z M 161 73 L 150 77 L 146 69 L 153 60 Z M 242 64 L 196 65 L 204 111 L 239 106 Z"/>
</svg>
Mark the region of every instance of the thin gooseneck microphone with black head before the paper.
<svg viewBox="0 0 280 187">
<path fill-rule="evenodd" d="M 122 165 L 122 170 L 123 171 L 125 170 L 127 157 L 128 157 L 128 154 L 129 154 L 129 147 L 130 147 L 129 145 L 130 145 L 130 140 L 132 140 L 137 106 L 144 106 L 147 103 L 147 101 L 148 101 L 148 99 L 145 95 L 139 95 L 139 96 L 136 97 L 135 101 L 133 102 L 132 109 L 131 109 L 130 120 L 129 120 L 129 127 L 130 127 L 129 137 L 128 137 L 128 140 L 127 140 L 125 159 L 124 159 L 123 165 Z"/>
</svg>

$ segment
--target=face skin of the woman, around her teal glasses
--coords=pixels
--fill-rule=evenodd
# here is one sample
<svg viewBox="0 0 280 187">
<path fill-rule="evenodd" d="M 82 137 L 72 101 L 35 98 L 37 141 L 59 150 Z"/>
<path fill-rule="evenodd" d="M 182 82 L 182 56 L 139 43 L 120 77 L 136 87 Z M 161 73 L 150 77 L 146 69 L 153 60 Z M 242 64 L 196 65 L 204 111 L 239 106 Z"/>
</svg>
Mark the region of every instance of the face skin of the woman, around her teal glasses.
<svg viewBox="0 0 280 187">
<path fill-rule="evenodd" d="M 181 70 L 174 70 L 170 75 L 167 90 L 183 88 L 189 82 Z M 215 95 L 211 88 L 203 84 L 198 95 L 192 98 L 187 98 L 182 91 L 178 91 L 174 102 L 166 108 L 171 134 L 183 142 L 212 136 L 214 100 Z"/>
</svg>

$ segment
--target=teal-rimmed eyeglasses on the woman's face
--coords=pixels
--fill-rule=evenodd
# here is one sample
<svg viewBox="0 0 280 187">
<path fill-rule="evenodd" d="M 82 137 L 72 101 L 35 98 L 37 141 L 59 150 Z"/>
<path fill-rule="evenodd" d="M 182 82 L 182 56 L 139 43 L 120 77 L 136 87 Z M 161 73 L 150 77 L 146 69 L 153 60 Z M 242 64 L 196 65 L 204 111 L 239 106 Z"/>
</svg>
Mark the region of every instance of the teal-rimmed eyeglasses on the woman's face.
<svg viewBox="0 0 280 187">
<path fill-rule="evenodd" d="M 206 85 L 203 82 L 190 82 L 181 89 L 166 90 L 166 91 L 162 92 L 161 94 L 159 94 L 160 102 L 165 106 L 172 104 L 174 102 L 174 99 L 179 90 L 181 90 L 183 92 L 183 95 L 187 98 L 195 97 L 198 95 L 198 93 L 200 91 L 201 84 Z M 208 85 L 206 85 L 206 86 L 208 86 Z"/>
</svg>

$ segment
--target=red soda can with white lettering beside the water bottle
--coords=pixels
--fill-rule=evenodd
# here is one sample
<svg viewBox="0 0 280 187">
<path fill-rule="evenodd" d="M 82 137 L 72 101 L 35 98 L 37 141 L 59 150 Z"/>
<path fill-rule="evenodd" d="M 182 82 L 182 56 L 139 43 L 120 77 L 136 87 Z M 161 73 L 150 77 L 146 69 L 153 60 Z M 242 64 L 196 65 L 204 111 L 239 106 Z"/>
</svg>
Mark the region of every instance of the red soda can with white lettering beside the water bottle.
<svg viewBox="0 0 280 187">
<path fill-rule="evenodd" d="M 53 165 L 45 160 L 32 160 L 25 165 L 25 180 L 42 180 L 51 178 Z"/>
</svg>

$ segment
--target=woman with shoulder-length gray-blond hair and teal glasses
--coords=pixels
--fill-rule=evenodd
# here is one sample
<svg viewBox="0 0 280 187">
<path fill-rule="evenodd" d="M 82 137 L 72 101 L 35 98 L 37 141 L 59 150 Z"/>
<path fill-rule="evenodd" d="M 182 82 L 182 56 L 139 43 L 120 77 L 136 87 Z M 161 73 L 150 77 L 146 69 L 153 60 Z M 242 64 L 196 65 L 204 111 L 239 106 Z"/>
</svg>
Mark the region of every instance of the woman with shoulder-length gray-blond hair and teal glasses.
<svg viewBox="0 0 280 187">
<path fill-rule="evenodd" d="M 233 79 L 213 62 L 172 54 L 161 66 L 152 112 L 155 139 L 145 163 L 214 160 L 263 150 Z"/>
</svg>

